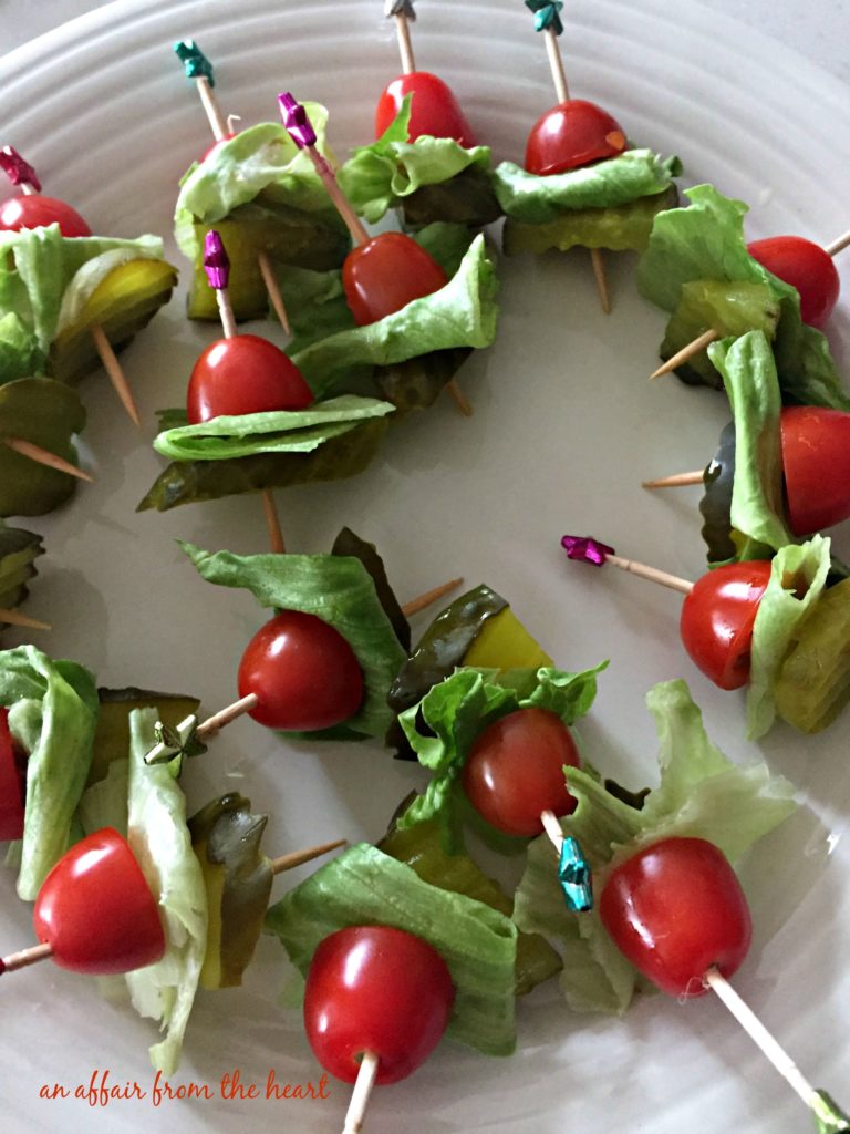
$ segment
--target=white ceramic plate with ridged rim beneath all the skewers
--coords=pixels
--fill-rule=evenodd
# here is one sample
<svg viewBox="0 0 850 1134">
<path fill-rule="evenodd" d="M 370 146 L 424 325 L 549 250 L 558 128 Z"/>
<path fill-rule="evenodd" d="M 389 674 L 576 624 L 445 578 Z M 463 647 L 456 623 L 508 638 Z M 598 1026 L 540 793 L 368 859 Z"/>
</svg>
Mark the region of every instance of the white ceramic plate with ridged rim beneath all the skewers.
<svg viewBox="0 0 850 1134">
<path fill-rule="evenodd" d="M 167 234 L 177 178 L 207 144 L 172 41 L 197 37 L 227 111 L 245 122 L 273 118 L 281 88 L 326 102 L 343 152 L 368 139 L 377 92 L 398 70 L 381 8 L 377 0 L 110 5 L 0 61 L 0 141 L 22 150 L 46 192 L 77 204 L 96 231 Z M 419 8 L 419 66 L 452 84 L 499 158 L 521 153 L 530 124 L 554 102 L 527 10 L 519 0 Z M 751 236 L 828 240 L 847 227 L 847 92 L 774 41 L 696 3 L 597 0 L 569 12 L 563 45 L 573 93 L 604 103 L 631 137 L 678 152 L 689 180 L 748 200 Z M 326 550 L 349 524 L 377 543 L 402 599 L 462 573 L 469 585 L 486 581 L 508 596 L 566 668 L 612 658 L 583 735 L 600 768 L 639 785 L 654 768 L 643 697 L 656 680 L 686 676 L 724 751 L 740 760 L 758 752 L 741 739 L 741 697 L 714 689 L 682 654 L 678 598 L 613 569 L 569 565 L 559 549 L 564 531 L 592 531 L 679 574 L 696 577 L 703 565 L 692 490 L 651 499 L 638 485 L 706 460 L 724 403 L 675 379 L 647 383 L 663 316 L 636 296 L 631 257 L 610 257 L 610 272 L 615 312 L 605 318 L 583 253 L 505 264 L 499 341 L 462 374 L 473 420 L 441 403 L 397 426 L 366 474 L 280 493 L 280 508 L 294 550 Z M 844 306 L 832 323 L 836 348 L 849 323 Z M 134 507 L 160 467 L 148 446 L 153 411 L 181 401 L 212 337 L 184 321 L 177 301 L 127 352 L 144 435 L 102 375 L 85 382 L 97 482 L 41 525 L 49 553 L 28 608 L 53 623 L 43 646 L 85 662 L 102 684 L 197 691 L 211 711 L 232 697 L 235 667 L 263 616 L 246 594 L 203 584 L 173 538 L 262 550 L 260 505 L 231 499 L 167 516 Z M 426 621 L 420 616 L 419 628 Z M 850 995 L 845 738 L 843 721 L 816 739 L 777 728 L 763 746 L 800 785 L 807 807 L 746 871 L 756 943 L 736 981 L 811 1077 L 836 1093 L 847 1055 L 840 1006 Z M 272 853 L 335 835 L 377 838 L 423 781 L 376 746 L 287 745 L 250 721 L 228 729 L 185 776 L 193 806 L 231 788 L 262 802 Z M 8 874 L 0 887 L 7 951 L 28 941 L 29 915 Z M 316 1081 L 298 1014 L 274 1004 L 284 975 L 282 951 L 264 940 L 244 989 L 198 996 L 180 1083 L 218 1095 L 236 1068 L 261 1094 L 272 1068 L 279 1081 Z M 148 1023 L 50 965 L 3 981 L 2 1021 L 3 1128 L 15 1134 L 341 1125 L 349 1091 L 339 1084 L 325 1101 L 216 1097 L 154 1110 Z M 107 1108 L 40 1099 L 43 1085 L 73 1091 L 104 1070 L 110 1084 L 138 1082 L 147 1098 Z M 542 989 L 519 1007 L 515 1058 L 444 1044 L 406 1083 L 377 1091 L 368 1129 L 389 1134 L 401 1123 L 447 1134 L 792 1134 L 808 1117 L 709 998 L 687 1007 L 655 998 L 618 1022 L 571 1016 L 555 990 Z"/>
</svg>

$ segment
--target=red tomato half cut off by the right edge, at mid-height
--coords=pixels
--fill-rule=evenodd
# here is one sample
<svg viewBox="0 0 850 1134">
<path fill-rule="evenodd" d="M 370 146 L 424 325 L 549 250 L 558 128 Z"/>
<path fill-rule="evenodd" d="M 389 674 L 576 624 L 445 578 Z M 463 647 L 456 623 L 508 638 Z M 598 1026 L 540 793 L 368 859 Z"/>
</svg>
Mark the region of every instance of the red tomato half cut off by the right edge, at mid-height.
<svg viewBox="0 0 850 1134">
<path fill-rule="evenodd" d="M 791 531 L 808 535 L 850 518 L 850 414 L 785 406 L 780 421 Z"/>
</svg>

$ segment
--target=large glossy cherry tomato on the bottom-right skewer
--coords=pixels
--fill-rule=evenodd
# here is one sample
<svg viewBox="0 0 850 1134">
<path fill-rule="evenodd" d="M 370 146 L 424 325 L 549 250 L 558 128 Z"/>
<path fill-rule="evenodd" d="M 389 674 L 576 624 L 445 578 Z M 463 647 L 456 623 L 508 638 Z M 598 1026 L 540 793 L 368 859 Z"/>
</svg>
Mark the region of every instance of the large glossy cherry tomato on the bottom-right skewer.
<svg viewBox="0 0 850 1134">
<path fill-rule="evenodd" d="M 638 972 L 675 997 L 703 996 L 712 965 L 736 973 L 753 936 L 738 875 L 705 839 L 663 839 L 638 850 L 605 882 L 600 916 Z"/>
</svg>

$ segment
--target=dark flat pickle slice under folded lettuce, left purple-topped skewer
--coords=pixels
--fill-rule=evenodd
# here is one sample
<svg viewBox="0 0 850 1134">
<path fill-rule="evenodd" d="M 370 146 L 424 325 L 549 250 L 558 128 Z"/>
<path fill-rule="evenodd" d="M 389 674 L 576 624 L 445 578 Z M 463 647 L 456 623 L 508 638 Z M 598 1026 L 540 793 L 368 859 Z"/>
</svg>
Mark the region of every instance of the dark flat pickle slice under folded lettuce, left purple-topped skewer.
<svg viewBox="0 0 850 1134">
<path fill-rule="evenodd" d="M 313 452 L 260 452 L 226 460 L 178 460 L 154 481 L 136 511 L 168 511 L 184 503 L 264 489 L 289 488 L 356 476 L 372 463 L 386 432 L 386 418 L 364 421 L 320 445 Z"/>
</svg>

